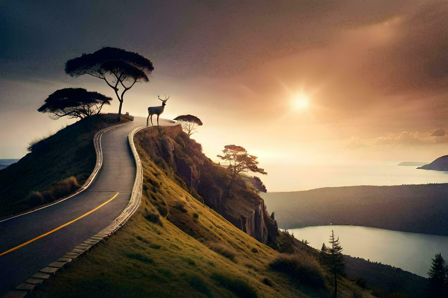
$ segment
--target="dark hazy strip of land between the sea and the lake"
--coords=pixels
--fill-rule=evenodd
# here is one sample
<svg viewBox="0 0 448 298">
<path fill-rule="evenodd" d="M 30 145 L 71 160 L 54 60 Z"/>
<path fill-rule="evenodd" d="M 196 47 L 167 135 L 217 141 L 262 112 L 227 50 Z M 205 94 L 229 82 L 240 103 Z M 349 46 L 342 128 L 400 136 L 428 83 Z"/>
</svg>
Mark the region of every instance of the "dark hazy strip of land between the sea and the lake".
<svg viewBox="0 0 448 298">
<path fill-rule="evenodd" d="M 283 229 L 332 223 L 448 235 L 448 184 L 327 187 L 260 195 Z"/>
</svg>

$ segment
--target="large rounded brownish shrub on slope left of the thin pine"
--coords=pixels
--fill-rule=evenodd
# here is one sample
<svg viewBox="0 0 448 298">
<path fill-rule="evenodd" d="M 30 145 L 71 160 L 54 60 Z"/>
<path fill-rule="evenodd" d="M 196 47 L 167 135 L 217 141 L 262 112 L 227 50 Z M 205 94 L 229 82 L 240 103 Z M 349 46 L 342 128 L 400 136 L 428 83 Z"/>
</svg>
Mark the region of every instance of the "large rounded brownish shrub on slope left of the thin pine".
<svg viewBox="0 0 448 298">
<path fill-rule="evenodd" d="M 312 287 L 324 286 L 324 272 L 320 264 L 311 256 L 280 254 L 269 266 L 289 275 L 293 281 L 300 281 Z"/>
</svg>

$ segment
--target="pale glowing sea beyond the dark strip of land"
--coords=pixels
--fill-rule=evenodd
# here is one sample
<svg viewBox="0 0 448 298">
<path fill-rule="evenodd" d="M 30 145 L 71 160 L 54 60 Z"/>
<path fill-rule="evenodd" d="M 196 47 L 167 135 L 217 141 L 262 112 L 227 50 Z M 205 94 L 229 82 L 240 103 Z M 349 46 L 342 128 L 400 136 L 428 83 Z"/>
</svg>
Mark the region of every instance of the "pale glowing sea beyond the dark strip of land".
<svg viewBox="0 0 448 298">
<path fill-rule="evenodd" d="M 263 164 L 268 175 L 260 178 L 269 192 L 333 186 L 448 183 L 448 172 L 398 166 L 402 161 L 405 160 Z"/>
</svg>

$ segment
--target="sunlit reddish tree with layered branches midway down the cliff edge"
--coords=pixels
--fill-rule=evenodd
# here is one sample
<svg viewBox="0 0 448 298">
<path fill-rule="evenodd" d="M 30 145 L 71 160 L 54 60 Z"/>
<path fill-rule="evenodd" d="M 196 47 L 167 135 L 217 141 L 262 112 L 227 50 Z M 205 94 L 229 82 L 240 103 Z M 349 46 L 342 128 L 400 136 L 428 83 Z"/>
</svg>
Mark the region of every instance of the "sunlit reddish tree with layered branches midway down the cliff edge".
<svg viewBox="0 0 448 298">
<path fill-rule="evenodd" d="M 224 155 L 216 155 L 220 159 L 227 160 L 229 162 L 228 170 L 230 171 L 231 180 L 228 185 L 229 189 L 232 187 L 233 182 L 237 178 L 237 175 L 241 172 L 254 172 L 267 175 L 264 169 L 258 168 L 257 156 L 250 155 L 246 149 L 237 145 L 226 145 L 223 150 Z"/>
</svg>

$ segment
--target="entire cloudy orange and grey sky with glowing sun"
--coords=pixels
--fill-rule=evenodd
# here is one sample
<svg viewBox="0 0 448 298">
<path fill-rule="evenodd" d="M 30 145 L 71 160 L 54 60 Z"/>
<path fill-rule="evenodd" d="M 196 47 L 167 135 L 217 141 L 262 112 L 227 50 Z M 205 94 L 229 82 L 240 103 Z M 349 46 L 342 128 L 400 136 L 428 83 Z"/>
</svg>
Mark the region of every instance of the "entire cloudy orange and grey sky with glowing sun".
<svg viewBox="0 0 448 298">
<path fill-rule="evenodd" d="M 217 160 L 224 145 L 282 168 L 339 161 L 431 161 L 446 154 L 446 1 L 2 1 L 0 158 L 73 123 L 36 109 L 57 89 L 113 96 L 64 65 L 103 46 L 138 52 L 155 70 L 126 93 L 146 117 L 194 114 L 192 137 Z M 103 109 L 116 112 L 118 101 Z M 278 181 L 277 181 L 278 182 Z M 288 188 L 293 190 L 293 183 Z M 282 184 L 283 185 L 283 184 Z"/>
</svg>

